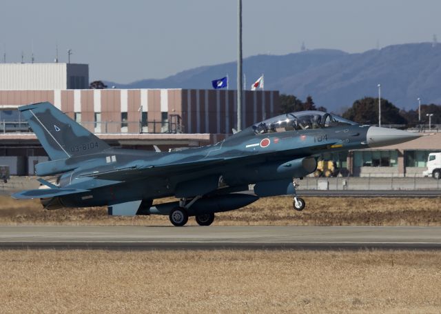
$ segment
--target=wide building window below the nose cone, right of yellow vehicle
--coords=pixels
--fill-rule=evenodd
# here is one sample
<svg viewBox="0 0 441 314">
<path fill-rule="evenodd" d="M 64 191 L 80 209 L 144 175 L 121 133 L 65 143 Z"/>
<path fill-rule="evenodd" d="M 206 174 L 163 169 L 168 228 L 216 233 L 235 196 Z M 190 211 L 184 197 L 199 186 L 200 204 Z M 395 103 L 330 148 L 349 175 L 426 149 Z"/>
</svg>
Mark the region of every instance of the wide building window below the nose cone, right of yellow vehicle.
<svg viewBox="0 0 441 314">
<path fill-rule="evenodd" d="M 398 167 L 396 150 L 365 150 L 353 152 L 356 167 Z"/>
</svg>

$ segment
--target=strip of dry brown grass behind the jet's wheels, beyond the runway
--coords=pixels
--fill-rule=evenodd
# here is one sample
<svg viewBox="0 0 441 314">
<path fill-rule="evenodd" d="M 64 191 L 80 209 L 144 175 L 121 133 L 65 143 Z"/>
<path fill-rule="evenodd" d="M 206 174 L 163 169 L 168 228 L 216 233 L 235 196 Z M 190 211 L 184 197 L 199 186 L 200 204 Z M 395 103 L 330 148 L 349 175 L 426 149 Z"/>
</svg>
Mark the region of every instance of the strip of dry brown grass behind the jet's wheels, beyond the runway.
<svg viewBox="0 0 441 314">
<path fill-rule="evenodd" d="M 441 226 L 441 197 L 307 197 L 302 212 L 291 197 L 259 199 L 240 210 L 216 214 L 218 226 Z M 159 202 L 170 201 L 162 199 Z M 38 200 L 0 197 L 0 224 L 169 225 L 168 217 L 107 217 L 105 208 L 43 210 Z M 189 224 L 196 224 L 189 219 Z"/>
</svg>

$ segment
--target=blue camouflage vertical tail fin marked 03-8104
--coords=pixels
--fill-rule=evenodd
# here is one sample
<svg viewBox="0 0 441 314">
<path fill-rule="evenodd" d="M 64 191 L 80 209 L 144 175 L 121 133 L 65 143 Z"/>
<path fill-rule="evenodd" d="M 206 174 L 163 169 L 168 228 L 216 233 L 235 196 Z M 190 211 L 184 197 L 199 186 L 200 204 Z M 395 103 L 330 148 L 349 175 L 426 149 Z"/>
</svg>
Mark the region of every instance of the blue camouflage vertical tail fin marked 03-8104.
<svg viewBox="0 0 441 314">
<path fill-rule="evenodd" d="M 49 102 L 19 107 L 50 159 L 90 155 L 110 148 Z"/>
</svg>

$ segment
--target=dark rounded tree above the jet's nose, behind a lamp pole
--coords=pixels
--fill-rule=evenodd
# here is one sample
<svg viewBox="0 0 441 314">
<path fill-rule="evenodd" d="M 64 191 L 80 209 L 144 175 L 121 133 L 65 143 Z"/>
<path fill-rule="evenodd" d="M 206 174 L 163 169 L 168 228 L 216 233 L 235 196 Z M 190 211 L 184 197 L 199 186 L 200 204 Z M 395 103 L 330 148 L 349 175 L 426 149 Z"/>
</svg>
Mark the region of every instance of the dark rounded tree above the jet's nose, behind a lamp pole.
<svg viewBox="0 0 441 314">
<path fill-rule="evenodd" d="M 352 107 L 346 110 L 342 117 L 359 124 L 378 124 L 378 98 L 365 97 L 353 102 Z M 400 109 L 387 99 L 381 99 L 382 124 L 407 124 Z"/>
</svg>

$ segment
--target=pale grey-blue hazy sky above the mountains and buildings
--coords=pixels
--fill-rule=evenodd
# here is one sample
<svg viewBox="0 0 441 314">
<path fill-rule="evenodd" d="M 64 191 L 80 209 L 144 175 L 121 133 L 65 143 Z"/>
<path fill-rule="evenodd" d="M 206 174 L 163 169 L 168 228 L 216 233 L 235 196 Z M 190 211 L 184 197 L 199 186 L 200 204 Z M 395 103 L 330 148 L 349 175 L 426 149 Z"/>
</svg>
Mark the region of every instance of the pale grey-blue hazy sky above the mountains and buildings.
<svg viewBox="0 0 441 314">
<path fill-rule="evenodd" d="M 440 0 L 243 0 L 244 57 L 335 48 L 362 52 L 441 41 Z M 1 0 L 6 61 L 90 64 L 90 79 L 129 83 L 236 59 L 236 0 Z M 33 45 L 32 45 L 33 43 Z"/>
</svg>

